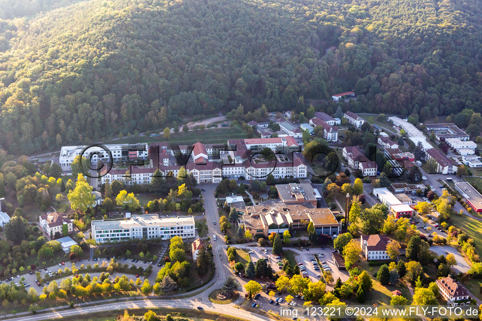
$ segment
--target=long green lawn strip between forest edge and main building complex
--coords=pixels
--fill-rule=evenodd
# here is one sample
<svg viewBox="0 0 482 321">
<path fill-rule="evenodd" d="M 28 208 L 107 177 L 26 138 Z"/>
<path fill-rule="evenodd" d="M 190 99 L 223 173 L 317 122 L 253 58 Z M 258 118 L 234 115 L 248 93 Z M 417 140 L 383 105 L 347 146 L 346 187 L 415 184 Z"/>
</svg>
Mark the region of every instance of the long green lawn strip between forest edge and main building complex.
<svg viewBox="0 0 482 321">
<path fill-rule="evenodd" d="M 169 144 L 189 145 L 198 141 L 202 141 L 205 144 L 225 143 L 228 139 L 245 138 L 246 132 L 241 126 L 233 126 L 223 128 L 210 128 L 203 130 L 190 130 L 187 133 L 180 131 L 178 133 L 171 133 L 171 137 L 166 140 L 162 135 L 155 137 L 130 137 L 122 138 L 113 141 L 106 141 L 105 144 L 121 144 L 121 143 L 134 143 L 134 142 L 158 142 L 166 141 Z"/>
</svg>

